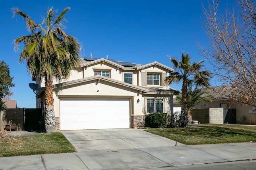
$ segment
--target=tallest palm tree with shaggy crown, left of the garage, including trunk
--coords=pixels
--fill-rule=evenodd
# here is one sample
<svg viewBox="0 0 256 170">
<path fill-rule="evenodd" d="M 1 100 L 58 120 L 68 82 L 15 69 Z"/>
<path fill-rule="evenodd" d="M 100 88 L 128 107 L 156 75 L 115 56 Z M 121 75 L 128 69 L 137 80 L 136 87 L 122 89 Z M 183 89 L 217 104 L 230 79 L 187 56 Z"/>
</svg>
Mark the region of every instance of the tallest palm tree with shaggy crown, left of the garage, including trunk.
<svg viewBox="0 0 256 170">
<path fill-rule="evenodd" d="M 20 15 L 31 33 L 14 40 L 15 49 L 22 42 L 24 47 L 19 56 L 20 63 L 27 65 L 33 79 L 45 81 L 45 128 L 46 132 L 56 131 L 56 119 L 53 106 L 53 79 L 67 78 L 70 70 L 80 64 L 80 43 L 63 31 L 65 8 L 59 16 L 56 10 L 48 9 L 46 18 L 37 24 L 18 8 L 12 8 L 14 16 Z"/>
</svg>

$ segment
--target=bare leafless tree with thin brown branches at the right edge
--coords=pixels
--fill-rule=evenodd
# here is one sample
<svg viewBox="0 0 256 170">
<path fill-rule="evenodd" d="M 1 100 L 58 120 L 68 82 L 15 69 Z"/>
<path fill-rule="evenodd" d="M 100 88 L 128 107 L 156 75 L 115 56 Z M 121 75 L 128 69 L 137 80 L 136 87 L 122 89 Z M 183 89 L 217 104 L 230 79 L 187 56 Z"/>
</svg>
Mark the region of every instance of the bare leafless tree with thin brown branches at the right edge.
<svg viewBox="0 0 256 170">
<path fill-rule="evenodd" d="M 210 47 L 199 45 L 215 77 L 230 85 L 232 101 L 256 105 L 256 3 L 239 0 L 232 11 L 219 12 L 220 0 L 202 4 Z"/>
</svg>

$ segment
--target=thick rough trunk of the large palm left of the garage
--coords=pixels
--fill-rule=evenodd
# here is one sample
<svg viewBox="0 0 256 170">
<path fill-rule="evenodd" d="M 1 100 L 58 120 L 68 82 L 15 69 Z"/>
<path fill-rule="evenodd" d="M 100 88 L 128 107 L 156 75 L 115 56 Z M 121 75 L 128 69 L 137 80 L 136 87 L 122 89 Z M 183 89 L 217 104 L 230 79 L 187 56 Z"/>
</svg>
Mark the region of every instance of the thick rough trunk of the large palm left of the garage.
<svg viewBox="0 0 256 170">
<path fill-rule="evenodd" d="M 53 106 L 52 80 L 45 76 L 45 130 L 46 132 L 56 132 L 56 119 Z"/>
</svg>

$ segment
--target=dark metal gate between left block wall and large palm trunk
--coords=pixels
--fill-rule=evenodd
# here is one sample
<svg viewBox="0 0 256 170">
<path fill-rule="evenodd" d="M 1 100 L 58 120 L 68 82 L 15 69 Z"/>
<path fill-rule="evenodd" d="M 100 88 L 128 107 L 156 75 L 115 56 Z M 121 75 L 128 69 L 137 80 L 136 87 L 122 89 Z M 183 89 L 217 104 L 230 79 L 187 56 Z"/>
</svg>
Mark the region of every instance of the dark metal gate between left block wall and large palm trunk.
<svg viewBox="0 0 256 170">
<path fill-rule="evenodd" d="M 42 123 L 40 122 L 42 121 Z M 44 129 L 42 109 L 24 110 L 24 130 L 42 130 Z"/>
</svg>

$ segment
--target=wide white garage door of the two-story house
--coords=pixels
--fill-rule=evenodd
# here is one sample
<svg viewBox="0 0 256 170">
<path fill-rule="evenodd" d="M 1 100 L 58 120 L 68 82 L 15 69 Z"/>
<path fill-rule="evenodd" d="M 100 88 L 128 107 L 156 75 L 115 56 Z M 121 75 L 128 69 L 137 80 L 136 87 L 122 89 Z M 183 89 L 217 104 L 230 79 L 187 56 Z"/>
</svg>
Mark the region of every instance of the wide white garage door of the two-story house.
<svg viewBox="0 0 256 170">
<path fill-rule="evenodd" d="M 60 130 L 130 128 L 129 99 L 60 99 Z"/>
</svg>

